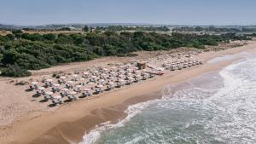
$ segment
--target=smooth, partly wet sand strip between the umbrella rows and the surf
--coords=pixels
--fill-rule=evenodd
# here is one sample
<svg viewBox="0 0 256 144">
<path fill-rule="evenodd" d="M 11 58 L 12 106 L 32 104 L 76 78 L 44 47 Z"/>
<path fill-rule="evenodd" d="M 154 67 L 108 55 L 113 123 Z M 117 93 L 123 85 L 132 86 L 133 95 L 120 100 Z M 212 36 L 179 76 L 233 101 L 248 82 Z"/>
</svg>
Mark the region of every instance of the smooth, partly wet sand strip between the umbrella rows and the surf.
<svg viewBox="0 0 256 144">
<path fill-rule="evenodd" d="M 226 49 L 218 52 L 207 52 L 199 55 L 204 60 L 211 60 L 220 55 L 233 55 L 241 51 L 256 48 L 256 42 L 246 46 Z M 177 84 L 228 66 L 232 60 L 217 63 L 205 63 L 177 72 L 166 72 L 160 78 L 154 78 L 142 84 L 131 85 L 124 89 L 96 96 L 86 101 L 76 101 L 63 105 L 55 112 L 45 112 L 36 118 L 25 118 L 13 127 L 6 129 L 6 135 L 0 137 L 3 143 L 70 143 L 79 142 L 85 131 L 92 130 L 96 124 L 112 121 L 117 122 L 125 117 L 125 109 L 132 104 L 160 98 L 160 91 L 166 84 Z M 153 84 L 154 83 L 154 84 Z"/>
</svg>

